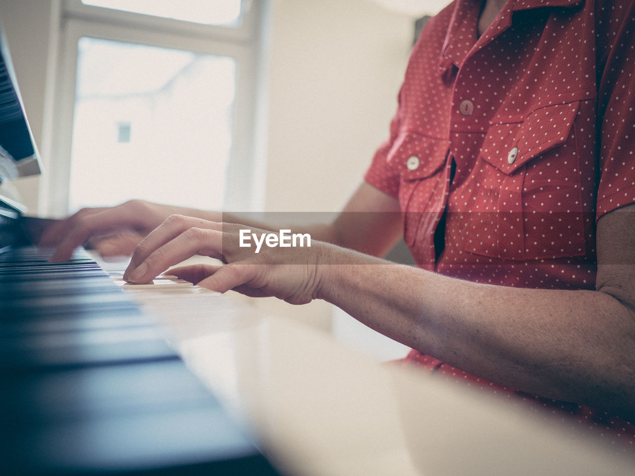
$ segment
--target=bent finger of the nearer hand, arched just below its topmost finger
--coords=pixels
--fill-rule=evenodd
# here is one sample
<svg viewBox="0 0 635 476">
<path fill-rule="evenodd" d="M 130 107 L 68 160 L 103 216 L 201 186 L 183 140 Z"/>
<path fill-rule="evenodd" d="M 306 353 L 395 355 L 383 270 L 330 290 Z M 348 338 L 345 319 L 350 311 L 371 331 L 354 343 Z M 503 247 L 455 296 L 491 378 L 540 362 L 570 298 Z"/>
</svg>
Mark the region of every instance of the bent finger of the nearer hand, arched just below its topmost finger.
<svg viewBox="0 0 635 476">
<path fill-rule="evenodd" d="M 167 231 L 171 233 L 172 230 Z M 166 230 L 161 232 L 163 237 Z M 140 246 L 137 246 L 137 250 Z M 137 251 L 135 251 L 136 254 Z M 131 261 L 123 278 L 128 282 L 144 284 L 164 270 L 194 255 L 206 255 L 213 258 L 221 256 L 222 232 L 206 228 L 187 228 L 177 237 L 152 251 L 138 266 Z"/>
</svg>

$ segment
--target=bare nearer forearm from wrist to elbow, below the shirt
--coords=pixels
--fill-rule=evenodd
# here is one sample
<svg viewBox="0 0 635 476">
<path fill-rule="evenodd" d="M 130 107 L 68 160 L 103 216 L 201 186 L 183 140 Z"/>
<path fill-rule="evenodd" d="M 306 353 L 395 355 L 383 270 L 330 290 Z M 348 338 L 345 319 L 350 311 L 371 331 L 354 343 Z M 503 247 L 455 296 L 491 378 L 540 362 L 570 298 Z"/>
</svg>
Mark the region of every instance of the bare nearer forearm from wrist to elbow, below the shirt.
<svg viewBox="0 0 635 476">
<path fill-rule="evenodd" d="M 612 296 L 488 286 L 339 258 L 349 264 L 327 265 L 319 297 L 380 333 L 507 387 L 635 407 L 635 321 Z"/>
</svg>

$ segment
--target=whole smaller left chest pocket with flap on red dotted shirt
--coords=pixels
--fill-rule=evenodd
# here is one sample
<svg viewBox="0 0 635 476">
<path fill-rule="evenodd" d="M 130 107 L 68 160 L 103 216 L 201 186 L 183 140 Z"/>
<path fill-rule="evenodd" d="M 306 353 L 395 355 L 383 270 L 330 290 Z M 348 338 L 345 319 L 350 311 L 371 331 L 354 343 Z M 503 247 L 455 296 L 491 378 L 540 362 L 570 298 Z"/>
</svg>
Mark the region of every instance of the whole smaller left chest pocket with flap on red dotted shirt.
<svg viewBox="0 0 635 476">
<path fill-rule="evenodd" d="M 388 154 L 388 161 L 399 173 L 399 205 L 408 246 L 428 228 L 434 230 L 436 215 L 445 207 L 443 170 L 449 151 L 449 140 L 404 131 Z"/>
</svg>

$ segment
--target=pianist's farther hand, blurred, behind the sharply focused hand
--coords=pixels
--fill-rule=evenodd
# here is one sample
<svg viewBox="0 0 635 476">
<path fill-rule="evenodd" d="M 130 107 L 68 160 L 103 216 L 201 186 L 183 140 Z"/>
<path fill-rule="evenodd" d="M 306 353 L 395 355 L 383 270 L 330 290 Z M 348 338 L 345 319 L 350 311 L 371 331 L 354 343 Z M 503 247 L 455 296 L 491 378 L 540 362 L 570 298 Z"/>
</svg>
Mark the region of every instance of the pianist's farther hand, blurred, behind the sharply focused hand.
<svg viewBox="0 0 635 476">
<path fill-rule="evenodd" d="M 191 209 L 131 200 L 107 208 L 83 208 L 44 230 L 40 246 L 56 248 L 51 261 L 67 261 L 78 246 L 90 242 L 102 256 L 130 256 L 135 246 L 163 220 Z M 197 215 L 207 215 L 198 211 Z"/>
</svg>

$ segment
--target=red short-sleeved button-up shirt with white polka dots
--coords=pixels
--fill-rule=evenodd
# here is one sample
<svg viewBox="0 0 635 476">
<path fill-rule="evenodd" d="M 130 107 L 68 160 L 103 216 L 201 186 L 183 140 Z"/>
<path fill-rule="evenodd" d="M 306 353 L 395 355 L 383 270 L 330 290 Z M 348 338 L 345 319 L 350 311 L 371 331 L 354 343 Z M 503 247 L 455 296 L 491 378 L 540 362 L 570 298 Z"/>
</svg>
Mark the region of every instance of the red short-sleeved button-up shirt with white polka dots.
<svg viewBox="0 0 635 476">
<path fill-rule="evenodd" d="M 420 267 L 594 289 L 596 220 L 635 202 L 634 1 L 508 0 L 478 37 L 481 6 L 429 20 L 364 178 L 399 200 Z"/>
</svg>

